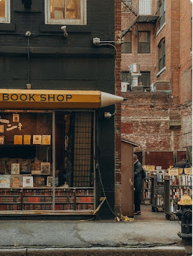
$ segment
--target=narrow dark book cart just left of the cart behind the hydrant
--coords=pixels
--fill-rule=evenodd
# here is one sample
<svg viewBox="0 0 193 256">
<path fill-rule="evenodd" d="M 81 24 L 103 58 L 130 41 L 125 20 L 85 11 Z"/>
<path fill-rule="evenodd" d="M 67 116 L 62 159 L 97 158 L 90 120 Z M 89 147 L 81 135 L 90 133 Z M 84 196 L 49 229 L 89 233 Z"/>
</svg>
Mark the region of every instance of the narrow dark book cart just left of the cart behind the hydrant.
<svg viewBox="0 0 193 256">
<path fill-rule="evenodd" d="M 164 174 L 165 171 L 159 171 L 151 175 L 150 204 L 153 212 L 158 212 L 158 208 L 164 209 Z"/>
</svg>

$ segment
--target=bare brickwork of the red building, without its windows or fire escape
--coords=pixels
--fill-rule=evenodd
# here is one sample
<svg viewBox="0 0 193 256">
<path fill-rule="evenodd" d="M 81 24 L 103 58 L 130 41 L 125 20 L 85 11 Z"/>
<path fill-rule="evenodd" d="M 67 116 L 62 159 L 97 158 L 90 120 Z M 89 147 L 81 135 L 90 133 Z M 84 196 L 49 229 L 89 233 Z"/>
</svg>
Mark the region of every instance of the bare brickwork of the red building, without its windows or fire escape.
<svg viewBox="0 0 193 256">
<path fill-rule="evenodd" d="M 122 30 L 135 20 L 122 13 Z M 122 104 L 122 137 L 140 144 L 141 150 L 184 150 L 192 145 L 192 3 L 189 0 L 166 1 L 166 24 L 135 24 L 132 53 L 122 54 L 121 69 L 139 63 L 141 71 L 151 71 L 151 83 L 171 93 L 122 93 L 129 101 Z M 137 31 L 150 31 L 150 54 L 137 53 Z M 165 66 L 158 73 L 158 45 L 165 38 Z M 156 64 L 156 65 L 155 65 Z M 181 120 L 181 126 L 169 126 L 169 120 Z"/>
</svg>

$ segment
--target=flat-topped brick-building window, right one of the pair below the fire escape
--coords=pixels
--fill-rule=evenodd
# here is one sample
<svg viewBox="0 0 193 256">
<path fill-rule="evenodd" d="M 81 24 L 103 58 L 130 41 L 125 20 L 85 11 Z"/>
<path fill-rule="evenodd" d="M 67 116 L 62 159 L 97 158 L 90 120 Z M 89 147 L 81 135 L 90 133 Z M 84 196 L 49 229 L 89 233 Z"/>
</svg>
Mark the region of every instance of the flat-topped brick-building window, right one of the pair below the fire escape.
<svg viewBox="0 0 193 256">
<path fill-rule="evenodd" d="M 138 32 L 138 53 L 150 53 L 150 32 Z"/>
</svg>

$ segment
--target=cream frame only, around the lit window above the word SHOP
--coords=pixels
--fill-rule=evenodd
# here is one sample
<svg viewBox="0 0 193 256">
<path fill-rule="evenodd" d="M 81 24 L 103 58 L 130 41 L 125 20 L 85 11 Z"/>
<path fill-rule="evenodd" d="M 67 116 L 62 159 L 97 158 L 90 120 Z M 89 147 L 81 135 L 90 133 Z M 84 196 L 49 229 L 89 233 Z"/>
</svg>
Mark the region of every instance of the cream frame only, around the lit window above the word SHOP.
<svg viewBox="0 0 193 256">
<path fill-rule="evenodd" d="M 45 24 L 50 25 L 86 25 L 86 0 L 80 0 L 81 2 L 81 19 L 52 19 L 50 17 L 50 3 L 51 0 L 45 0 Z"/>
</svg>

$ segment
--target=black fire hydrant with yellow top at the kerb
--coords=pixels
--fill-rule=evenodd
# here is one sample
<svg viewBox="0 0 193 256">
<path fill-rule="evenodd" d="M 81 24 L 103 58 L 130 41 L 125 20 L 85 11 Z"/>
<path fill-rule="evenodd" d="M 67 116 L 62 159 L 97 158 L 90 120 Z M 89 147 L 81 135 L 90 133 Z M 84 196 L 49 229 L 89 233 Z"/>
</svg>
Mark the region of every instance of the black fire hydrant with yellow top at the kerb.
<svg viewBox="0 0 193 256">
<path fill-rule="evenodd" d="M 177 235 L 182 239 L 192 238 L 192 199 L 188 194 L 184 194 L 177 203 L 179 208 L 176 216 L 181 219 L 181 231 Z"/>
</svg>

